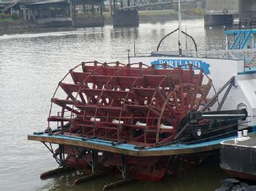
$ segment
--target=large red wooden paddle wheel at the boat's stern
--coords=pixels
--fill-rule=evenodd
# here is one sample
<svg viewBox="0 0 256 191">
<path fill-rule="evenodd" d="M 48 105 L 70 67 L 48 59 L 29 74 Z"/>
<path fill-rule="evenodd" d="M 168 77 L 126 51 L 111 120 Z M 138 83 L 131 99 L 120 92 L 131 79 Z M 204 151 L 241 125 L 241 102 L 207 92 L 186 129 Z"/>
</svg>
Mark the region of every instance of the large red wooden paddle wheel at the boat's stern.
<svg viewBox="0 0 256 191">
<path fill-rule="evenodd" d="M 48 121 L 57 121 L 59 129 L 53 133 L 115 144 L 126 142 L 136 147 L 173 141 L 182 119 L 206 102 L 212 87 L 207 78 L 206 84 L 202 84 L 203 70 L 193 70 L 193 65 L 182 68 L 82 62 L 59 83 L 66 98 L 56 96 L 60 88 L 53 96 L 52 106 L 61 107 L 58 115 L 52 115 L 51 107 Z M 98 151 L 67 145 L 63 153 L 67 155 L 63 158 L 68 166 L 83 168 L 86 161 L 92 162 L 93 155 L 97 155 L 98 163 L 117 167 L 128 163 L 131 174 L 150 180 L 161 179 L 171 160 L 168 157 L 123 158 L 115 153 L 98 154 Z"/>
</svg>

